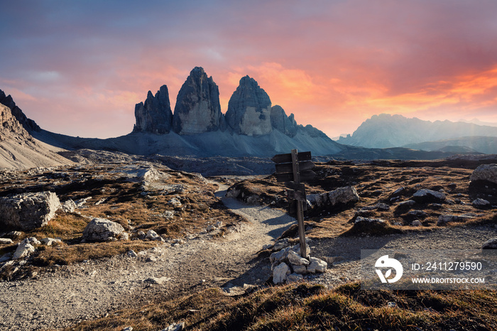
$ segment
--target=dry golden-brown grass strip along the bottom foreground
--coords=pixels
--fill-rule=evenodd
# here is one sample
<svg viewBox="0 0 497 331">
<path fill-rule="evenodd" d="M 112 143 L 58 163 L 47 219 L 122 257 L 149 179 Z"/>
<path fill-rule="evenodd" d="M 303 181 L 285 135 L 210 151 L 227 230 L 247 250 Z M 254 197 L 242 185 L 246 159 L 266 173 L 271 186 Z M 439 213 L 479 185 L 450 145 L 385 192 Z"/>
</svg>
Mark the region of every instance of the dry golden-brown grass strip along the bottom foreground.
<svg viewBox="0 0 497 331">
<path fill-rule="evenodd" d="M 394 302 L 396 308 L 388 308 Z M 136 310 L 121 310 L 67 330 L 496 330 L 492 291 L 361 291 L 359 283 L 333 290 L 309 283 L 272 286 L 226 297 L 209 289 Z"/>
</svg>

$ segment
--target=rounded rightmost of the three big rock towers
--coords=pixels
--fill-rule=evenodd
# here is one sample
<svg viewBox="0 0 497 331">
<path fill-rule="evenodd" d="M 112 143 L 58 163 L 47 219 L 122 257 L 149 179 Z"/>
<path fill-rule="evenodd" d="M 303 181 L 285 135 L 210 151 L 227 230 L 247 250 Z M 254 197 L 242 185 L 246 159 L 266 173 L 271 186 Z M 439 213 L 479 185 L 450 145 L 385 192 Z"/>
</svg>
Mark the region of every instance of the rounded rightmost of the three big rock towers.
<svg viewBox="0 0 497 331">
<path fill-rule="evenodd" d="M 271 99 L 253 78 L 241 78 L 229 99 L 226 122 L 236 134 L 261 136 L 271 132 Z"/>
</svg>

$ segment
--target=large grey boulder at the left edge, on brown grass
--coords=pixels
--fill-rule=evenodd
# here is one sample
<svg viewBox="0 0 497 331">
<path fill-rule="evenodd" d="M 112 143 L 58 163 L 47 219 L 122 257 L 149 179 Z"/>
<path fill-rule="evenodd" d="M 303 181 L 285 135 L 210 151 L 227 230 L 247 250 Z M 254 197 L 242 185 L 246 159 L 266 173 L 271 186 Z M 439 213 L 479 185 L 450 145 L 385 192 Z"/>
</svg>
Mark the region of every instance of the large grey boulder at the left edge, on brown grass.
<svg viewBox="0 0 497 331">
<path fill-rule="evenodd" d="M 55 217 L 60 201 L 54 192 L 21 193 L 0 198 L 0 225 L 28 231 Z"/>
</svg>

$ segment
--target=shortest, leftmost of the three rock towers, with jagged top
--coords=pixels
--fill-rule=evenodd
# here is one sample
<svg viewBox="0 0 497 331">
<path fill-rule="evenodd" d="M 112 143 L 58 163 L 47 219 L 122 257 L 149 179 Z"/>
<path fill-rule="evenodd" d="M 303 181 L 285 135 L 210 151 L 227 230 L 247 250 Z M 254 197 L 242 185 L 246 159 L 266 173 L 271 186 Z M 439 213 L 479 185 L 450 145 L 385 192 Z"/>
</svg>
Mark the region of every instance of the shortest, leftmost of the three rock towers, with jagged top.
<svg viewBox="0 0 497 331">
<path fill-rule="evenodd" d="M 155 93 L 155 97 L 151 91 L 148 91 L 145 102 L 140 102 L 135 106 L 135 119 L 133 132 L 168 134 L 173 124 L 168 87 L 161 86 Z"/>
</svg>

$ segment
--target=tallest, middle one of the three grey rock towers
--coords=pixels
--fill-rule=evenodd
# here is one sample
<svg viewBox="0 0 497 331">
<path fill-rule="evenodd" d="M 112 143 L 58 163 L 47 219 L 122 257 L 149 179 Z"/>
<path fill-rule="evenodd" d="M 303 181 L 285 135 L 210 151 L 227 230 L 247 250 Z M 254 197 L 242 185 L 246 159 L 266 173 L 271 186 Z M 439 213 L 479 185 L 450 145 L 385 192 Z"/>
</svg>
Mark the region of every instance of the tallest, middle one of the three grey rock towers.
<svg viewBox="0 0 497 331">
<path fill-rule="evenodd" d="M 202 134 L 225 129 L 219 88 L 202 67 L 195 67 L 178 93 L 173 130 L 178 134 Z"/>
</svg>

